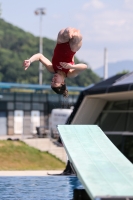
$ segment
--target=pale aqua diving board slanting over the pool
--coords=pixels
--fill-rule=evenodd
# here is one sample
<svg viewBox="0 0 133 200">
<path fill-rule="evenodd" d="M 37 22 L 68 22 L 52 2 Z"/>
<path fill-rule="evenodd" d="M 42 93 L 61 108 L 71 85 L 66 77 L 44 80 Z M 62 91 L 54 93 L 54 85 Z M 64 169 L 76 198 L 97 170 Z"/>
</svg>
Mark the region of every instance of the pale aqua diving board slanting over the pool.
<svg viewBox="0 0 133 200">
<path fill-rule="evenodd" d="M 97 125 L 58 125 L 58 131 L 90 199 L 133 199 L 133 165 Z"/>
</svg>

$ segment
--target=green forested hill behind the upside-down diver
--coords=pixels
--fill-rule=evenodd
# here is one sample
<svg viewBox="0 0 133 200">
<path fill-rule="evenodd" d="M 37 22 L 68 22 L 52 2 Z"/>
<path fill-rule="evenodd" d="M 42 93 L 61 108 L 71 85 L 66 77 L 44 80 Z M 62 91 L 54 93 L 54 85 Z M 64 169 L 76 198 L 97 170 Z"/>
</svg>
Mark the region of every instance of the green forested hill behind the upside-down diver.
<svg viewBox="0 0 133 200">
<path fill-rule="evenodd" d="M 51 60 L 56 41 L 43 38 L 43 54 Z M 38 83 L 38 62 L 24 71 L 23 60 L 39 52 L 39 37 L 0 19 L 0 82 Z M 76 63 L 80 62 L 77 58 Z M 43 83 L 51 83 L 52 74 L 43 72 Z M 68 85 L 88 86 L 100 78 L 87 69 L 74 79 L 68 79 Z"/>
</svg>

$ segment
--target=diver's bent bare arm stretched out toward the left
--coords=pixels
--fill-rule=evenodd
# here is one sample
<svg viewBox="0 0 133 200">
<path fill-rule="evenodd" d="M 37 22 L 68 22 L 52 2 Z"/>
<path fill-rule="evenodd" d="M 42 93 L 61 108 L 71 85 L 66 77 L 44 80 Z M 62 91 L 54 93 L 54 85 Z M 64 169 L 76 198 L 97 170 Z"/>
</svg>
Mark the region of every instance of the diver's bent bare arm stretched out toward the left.
<svg viewBox="0 0 133 200">
<path fill-rule="evenodd" d="M 54 69 L 53 69 L 53 66 L 52 66 L 52 63 L 50 62 L 50 60 L 48 60 L 41 53 L 37 53 L 37 54 L 33 55 L 28 60 L 24 60 L 24 62 L 23 62 L 23 66 L 25 67 L 24 69 L 27 70 L 28 67 L 31 65 L 31 63 L 35 62 L 35 61 L 40 61 L 43 65 L 45 65 L 46 69 L 49 72 L 54 72 Z"/>
</svg>

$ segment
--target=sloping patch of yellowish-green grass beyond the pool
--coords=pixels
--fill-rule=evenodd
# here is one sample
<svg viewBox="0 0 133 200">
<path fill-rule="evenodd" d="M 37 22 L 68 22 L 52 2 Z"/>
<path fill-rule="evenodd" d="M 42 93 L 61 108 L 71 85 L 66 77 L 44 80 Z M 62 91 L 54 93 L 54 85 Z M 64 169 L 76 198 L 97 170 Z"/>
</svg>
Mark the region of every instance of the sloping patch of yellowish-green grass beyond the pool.
<svg viewBox="0 0 133 200">
<path fill-rule="evenodd" d="M 61 170 L 65 163 L 21 141 L 0 141 L 0 170 Z"/>
</svg>

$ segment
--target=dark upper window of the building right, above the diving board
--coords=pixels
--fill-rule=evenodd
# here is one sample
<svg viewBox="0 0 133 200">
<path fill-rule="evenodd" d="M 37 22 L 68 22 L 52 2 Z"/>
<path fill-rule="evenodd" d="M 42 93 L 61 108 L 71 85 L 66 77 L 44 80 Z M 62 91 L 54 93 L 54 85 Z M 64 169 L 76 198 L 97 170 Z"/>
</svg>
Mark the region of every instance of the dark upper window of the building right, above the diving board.
<svg viewBox="0 0 133 200">
<path fill-rule="evenodd" d="M 133 100 L 107 102 L 96 124 L 103 131 L 133 132 Z"/>
</svg>

